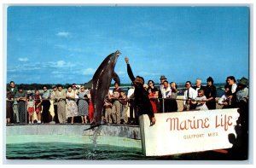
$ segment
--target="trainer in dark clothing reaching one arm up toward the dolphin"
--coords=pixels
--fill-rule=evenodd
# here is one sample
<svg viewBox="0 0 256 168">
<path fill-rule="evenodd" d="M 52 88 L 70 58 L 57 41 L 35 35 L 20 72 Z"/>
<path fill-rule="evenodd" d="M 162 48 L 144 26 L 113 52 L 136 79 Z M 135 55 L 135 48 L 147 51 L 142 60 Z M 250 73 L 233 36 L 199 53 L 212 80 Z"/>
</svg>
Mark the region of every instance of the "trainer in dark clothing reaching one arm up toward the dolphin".
<svg viewBox="0 0 256 168">
<path fill-rule="evenodd" d="M 144 78 L 140 76 L 137 76 L 136 78 L 134 77 L 133 72 L 131 71 L 128 57 L 125 57 L 125 62 L 127 65 L 128 75 L 135 86 L 134 101 L 137 115 L 148 114 L 148 117 L 150 119 L 150 125 L 154 125 L 155 119 L 153 108 L 148 97 L 148 92 L 143 88 Z M 136 120 L 138 122 L 138 117 Z"/>
</svg>

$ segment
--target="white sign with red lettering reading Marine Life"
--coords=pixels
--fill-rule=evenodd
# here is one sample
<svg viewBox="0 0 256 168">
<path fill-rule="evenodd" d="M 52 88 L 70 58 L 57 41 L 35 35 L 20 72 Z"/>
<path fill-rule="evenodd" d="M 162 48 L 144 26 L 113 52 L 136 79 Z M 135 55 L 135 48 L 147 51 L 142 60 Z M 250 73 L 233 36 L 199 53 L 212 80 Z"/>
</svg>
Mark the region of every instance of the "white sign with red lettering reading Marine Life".
<svg viewBox="0 0 256 168">
<path fill-rule="evenodd" d="M 148 115 L 140 116 L 143 154 L 162 156 L 232 148 L 229 135 L 236 136 L 238 108 L 177 113 L 155 113 L 150 126 Z"/>
</svg>

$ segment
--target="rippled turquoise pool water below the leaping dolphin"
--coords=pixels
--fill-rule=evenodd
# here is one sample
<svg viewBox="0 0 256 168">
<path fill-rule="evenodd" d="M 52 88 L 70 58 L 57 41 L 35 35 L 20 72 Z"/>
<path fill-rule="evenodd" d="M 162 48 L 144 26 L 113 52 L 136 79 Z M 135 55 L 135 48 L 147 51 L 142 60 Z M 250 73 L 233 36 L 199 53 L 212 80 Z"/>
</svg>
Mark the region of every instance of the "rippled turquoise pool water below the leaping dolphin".
<svg viewBox="0 0 256 168">
<path fill-rule="evenodd" d="M 138 148 L 78 143 L 21 143 L 7 144 L 7 159 L 143 159 Z"/>
</svg>

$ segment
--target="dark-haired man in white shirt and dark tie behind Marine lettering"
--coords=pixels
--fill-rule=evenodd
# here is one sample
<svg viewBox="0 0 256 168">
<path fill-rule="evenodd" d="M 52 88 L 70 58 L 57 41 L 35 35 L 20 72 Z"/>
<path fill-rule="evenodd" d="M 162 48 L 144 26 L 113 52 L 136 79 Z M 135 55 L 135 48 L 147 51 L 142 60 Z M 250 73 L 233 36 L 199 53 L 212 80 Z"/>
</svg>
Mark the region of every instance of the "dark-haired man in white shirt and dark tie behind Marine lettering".
<svg viewBox="0 0 256 168">
<path fill-rule="evenodd" d="M 189 111 L 195 109 L 195 105 L 191 103 L 191 100 L 197 96 L 197 91 L 191 87 L 191 82 L 187 81 L 185 84 L 186 90 L 184 91 L 183 98 L 183 111 Z"/>
</svg>

